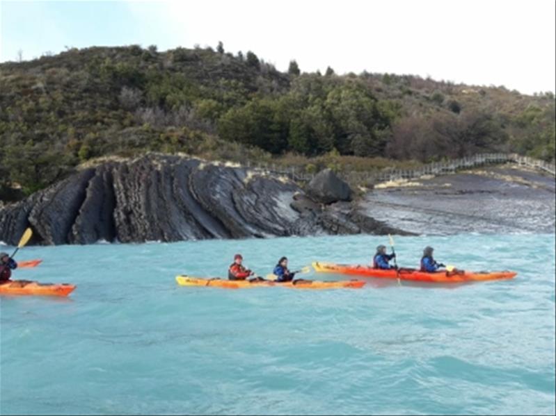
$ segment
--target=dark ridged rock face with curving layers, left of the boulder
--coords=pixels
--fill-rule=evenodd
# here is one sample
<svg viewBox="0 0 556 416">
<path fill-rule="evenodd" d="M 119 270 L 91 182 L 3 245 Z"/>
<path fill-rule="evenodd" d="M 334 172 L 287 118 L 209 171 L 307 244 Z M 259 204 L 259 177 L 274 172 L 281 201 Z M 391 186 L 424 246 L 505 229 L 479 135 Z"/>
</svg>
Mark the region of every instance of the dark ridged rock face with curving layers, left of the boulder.
<svg viewBox="0 0 556 416">
<path fill-rule="evenodd" d="M 334 189 L 347 198 L 343 185 Z M 0 240 L 17 244 L 27 226 L 31 244 L 399 233 L 262 172 L 157 155 L 84 169 L 0 208 Z"/>
</svg>

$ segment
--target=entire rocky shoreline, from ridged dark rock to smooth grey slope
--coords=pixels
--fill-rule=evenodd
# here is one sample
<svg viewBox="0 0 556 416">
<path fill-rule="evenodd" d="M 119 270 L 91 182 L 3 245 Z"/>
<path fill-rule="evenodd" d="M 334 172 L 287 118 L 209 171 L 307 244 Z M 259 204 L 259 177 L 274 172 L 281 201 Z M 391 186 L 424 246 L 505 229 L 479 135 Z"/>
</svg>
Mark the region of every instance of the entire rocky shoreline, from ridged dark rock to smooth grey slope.
<svg viewBox="0 0 556 416">
<path fill-rule="evenodd" d="M 308 185 L 268 172 L 150 154 L 83 167 L 0 207 L 0 241 L 172 242 L 290 235 L 553 233 L 555 180 L 488 167 L 376 184 L 363 197 L 333 172 Z"/>
</svg>

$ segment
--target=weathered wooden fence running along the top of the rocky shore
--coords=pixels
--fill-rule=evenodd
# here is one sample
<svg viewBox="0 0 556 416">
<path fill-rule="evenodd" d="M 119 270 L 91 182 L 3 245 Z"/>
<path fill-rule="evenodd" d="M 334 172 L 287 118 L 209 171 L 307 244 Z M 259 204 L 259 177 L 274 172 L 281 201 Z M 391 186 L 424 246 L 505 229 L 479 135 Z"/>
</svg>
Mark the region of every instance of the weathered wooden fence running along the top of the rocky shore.
<svg viewBox="0 0 556 416">
<path fill-rule="evenodd" d="M 543 160 L 520 156 L 516 153 L 482 153 L 468 158 L 450 160 L 447 162 L 429 163 L 416 169 L 392 169 L 386 168 L 377 172 L 347 171 L 337 172 L 338 176 L 351 183 L 379 183 L 395 181 L 399 179 L 414 179 L 425 175 L 452 174 L 461 169 L 479 167 L 484 165 L 499 165 L 502 163 L 516 163 L 521 166 L 540 169 L 551 175 L 555 175 L 554 163 Z M 294 181 L 307 182 L 315 177 L 315 174 L 305 172 L 303 167 L 280 167 L 280 165 L 253 164 L 248 167 L 272 172 L 273 174 L 287 176 Z"/>
</svg>

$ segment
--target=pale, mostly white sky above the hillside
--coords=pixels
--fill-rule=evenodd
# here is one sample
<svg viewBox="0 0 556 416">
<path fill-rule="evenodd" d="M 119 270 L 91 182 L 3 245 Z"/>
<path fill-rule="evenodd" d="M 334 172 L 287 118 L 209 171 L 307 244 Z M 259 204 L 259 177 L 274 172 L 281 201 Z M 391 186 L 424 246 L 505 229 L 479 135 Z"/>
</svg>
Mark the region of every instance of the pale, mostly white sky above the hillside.
<svg viewBox="0 0 556 416">
<path fill-rule="evenodd" d="M 251 50 L 282 71 L 379 72 L 556 91 L 554 0 L 0 0 L 0 62 L 66 47 Z"/>
</svg>

